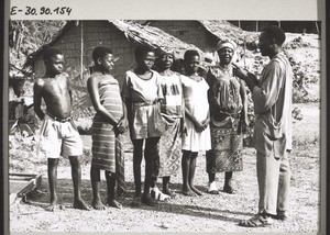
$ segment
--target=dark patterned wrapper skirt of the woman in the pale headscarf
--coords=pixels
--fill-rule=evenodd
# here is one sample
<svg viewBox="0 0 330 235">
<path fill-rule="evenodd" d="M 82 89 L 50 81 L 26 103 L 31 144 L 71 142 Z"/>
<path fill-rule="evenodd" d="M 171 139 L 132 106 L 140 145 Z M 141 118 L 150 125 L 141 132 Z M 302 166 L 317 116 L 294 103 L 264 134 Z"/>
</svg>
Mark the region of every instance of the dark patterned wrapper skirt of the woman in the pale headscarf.
<svg viewBox="0 0 330 235">
<path fill-rule="evenodd" d="M 207 172 L 241 171 L 243 137 L 238 134 L 240 119 L 228 116 L 222 122 L 211 121 L 212 149 L 207 152 Z"/>
</svg>

